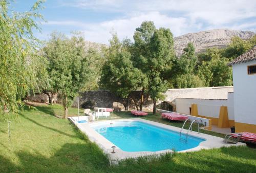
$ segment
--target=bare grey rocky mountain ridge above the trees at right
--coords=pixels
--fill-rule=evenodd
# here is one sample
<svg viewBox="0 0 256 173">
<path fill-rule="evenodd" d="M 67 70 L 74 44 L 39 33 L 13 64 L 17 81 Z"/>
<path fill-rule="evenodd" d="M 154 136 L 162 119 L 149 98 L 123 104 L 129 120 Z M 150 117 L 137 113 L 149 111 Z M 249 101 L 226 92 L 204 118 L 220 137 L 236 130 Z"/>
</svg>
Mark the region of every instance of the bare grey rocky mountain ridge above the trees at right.
<svg viewBox="0 0 256 173">
<path fill-rule="evenodd" d="M 197 33 L 188 33 L 174 38 L 174 47 L 177 56 L 180 56 L 188 42 L 192 42 L 196 48 L 196 53 L 204 52 L 207 48 L 226 47 L 231 38 L 239 36 L 242 39 L 249 39 L 255 33 L 252 31 L 237 31 L 231 29 L 214 29 Z"/>
</svg>

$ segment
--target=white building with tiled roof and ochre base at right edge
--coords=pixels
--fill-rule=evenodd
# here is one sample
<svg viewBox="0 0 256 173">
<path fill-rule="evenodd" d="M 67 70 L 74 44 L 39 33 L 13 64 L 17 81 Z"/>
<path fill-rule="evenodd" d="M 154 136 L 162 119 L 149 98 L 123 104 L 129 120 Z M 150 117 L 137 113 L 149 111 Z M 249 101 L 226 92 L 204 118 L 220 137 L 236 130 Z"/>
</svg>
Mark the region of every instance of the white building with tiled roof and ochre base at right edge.
<svg viewBox="0 0 256 173">
<path fill-rule="evenodd" d="M 233 68 L 236 132 L 256 133 L 256 46 L 229 63 Z"/>
</svg>

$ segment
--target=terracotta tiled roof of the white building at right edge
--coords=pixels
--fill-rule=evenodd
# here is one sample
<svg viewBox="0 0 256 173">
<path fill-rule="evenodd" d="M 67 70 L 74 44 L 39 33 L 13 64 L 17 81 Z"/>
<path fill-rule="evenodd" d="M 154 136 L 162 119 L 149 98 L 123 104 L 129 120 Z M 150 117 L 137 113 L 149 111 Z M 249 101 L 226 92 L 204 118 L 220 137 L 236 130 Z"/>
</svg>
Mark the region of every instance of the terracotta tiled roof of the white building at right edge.
<svg viewBox="0 0 256 173">
<path fill-rule="evenodd" d="M 233 64 L 236 64 L 236 63 L 243 63 L 243 62 L 248 62 L 253 60 L 256 60 L 256 45 L 253 48 L 251 48 L 249 51 L 245 52 L 244 54 L 240 55 L 236 59 L 229 62 L 227 65 L 232 66 Z"/>
</svg>

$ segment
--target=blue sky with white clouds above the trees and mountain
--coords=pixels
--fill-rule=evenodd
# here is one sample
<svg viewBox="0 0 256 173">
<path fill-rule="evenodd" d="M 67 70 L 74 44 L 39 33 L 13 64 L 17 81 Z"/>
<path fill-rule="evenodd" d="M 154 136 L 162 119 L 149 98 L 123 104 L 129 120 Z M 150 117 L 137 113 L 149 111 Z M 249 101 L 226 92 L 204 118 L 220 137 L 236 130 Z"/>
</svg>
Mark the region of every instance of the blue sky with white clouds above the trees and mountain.
<svg viewBox="0 0 256 173">
<path fill-rule="evenodd" d="M 12 10 L 29 11 L 34 0 L 16 0 Z M 111 33 L 120 39 L 133 38 L 142 21 L 154 21 L 156 28 L 169 28 L 174 36 L 210 29 L 228 28 L 256 32 L 255 0 L 48 0 L 40 11 L 46 21 L 40 22 L 47 40 L 53 31 L 70 36 L 80 31 L 86 40 L 108 44 Z"/>
</svg>

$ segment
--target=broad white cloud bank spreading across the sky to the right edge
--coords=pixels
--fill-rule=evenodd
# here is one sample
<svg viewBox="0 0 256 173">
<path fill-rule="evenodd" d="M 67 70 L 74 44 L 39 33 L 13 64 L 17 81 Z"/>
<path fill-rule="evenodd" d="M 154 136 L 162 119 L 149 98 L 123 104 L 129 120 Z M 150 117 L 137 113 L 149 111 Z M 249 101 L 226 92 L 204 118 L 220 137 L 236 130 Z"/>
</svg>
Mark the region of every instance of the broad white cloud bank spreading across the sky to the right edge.
<svg viewBox="0 0 256 173">
<path fill-rule="evenodd" d="M 169 28 L 175 36 L 206 29 L 231 28 L 237 30 L 255 30 L 255 22 L 246 21 L 256 18 L 256 1 L 252 0 L 163 0 L 163 1 L 60 1 L 62 6 L 72 6 L 95 12 L 118 12 L 121 17 L 98 23 L 64 20 L 49 21 L 44 25 L 76 26 L 84 32 L 86 39 L 108 43 L 110 31 L 118 36 L 132 38 L 134 31 L 142 21 L 154 21 L 157 28 Z M 120 15 L 119 15 L 120 16 Z"/>
</svg>

